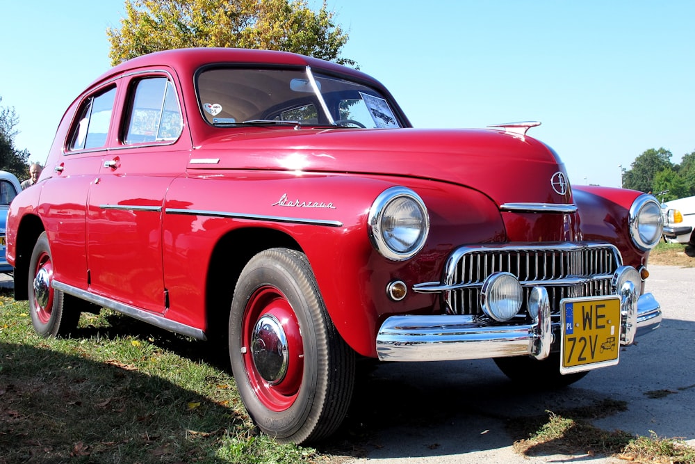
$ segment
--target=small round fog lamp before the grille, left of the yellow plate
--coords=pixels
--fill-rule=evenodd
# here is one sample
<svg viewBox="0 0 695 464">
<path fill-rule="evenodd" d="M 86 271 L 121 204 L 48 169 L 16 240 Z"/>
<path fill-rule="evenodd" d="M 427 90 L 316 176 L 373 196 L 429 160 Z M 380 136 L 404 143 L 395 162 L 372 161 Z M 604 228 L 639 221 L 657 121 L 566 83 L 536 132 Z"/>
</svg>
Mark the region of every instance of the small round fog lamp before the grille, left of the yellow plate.
<svg viewBox="0 0 695 464">
<path fill-rule="evenodd" d="M 509 321 L 521 309 L 523 289 L 512 273 L 500 272 L 489 275 L 480 289 L 482 312 L 496 321 Z"/>
</svg>

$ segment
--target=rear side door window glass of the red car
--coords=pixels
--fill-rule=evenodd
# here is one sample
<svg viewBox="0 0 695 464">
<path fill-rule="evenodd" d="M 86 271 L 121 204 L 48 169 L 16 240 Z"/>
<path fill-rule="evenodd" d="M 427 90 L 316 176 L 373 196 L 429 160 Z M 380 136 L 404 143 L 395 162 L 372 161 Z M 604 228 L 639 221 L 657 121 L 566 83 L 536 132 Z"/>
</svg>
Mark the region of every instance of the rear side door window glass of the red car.
<svg viewBox="0 0 695 464">
<path fill-rule="evenodd" d="M 85 100 L 79 112 L 79 122 L 72 129 L 68 150 L 88 150 L 106 145 L 115 97 L 116 88 L 112 87 Z"/>
</svg>

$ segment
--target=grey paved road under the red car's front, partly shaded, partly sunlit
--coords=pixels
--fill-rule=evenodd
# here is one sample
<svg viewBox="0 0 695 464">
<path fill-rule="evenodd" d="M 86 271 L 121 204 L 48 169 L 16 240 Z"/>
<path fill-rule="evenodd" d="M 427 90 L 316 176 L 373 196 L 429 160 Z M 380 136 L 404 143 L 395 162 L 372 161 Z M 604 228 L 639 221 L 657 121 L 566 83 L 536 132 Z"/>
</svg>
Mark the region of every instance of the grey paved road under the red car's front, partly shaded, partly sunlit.
<svg viewBox="0 0 695 464">
<path fill-rule="evenodd" d="M 628 410 L 594 425 L 640 435 L 655 431 L 695 446 L 695 268 L 650 271 L 647 288 L 662 305 L 662 327 L 623 349 L 619 365 L 560 392 L 515 391 L 489 360 L 379 365 L 361 383 L 359 406 L 348 418 L 369 437 L 368 458 L 350 464 L 618 462 L 587 455 L 523 458 L 512 451 L 514 439 L 505 430 L 509 417 L 606 398 L 626 401 Z M 667 394 L 646 395 L 655 390 Z"/>
</svg>

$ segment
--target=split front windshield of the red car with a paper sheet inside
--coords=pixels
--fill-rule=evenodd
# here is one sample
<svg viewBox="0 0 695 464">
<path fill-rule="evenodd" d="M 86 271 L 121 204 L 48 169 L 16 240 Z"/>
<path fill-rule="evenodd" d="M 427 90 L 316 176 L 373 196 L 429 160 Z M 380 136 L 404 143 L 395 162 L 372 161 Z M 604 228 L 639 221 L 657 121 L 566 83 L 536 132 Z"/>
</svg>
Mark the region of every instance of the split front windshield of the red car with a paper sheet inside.
<svg viewBox="0 0 695 464">
<path fill-rule="evenodd" d="M 206 120 L 218 126 L 402 127 L 377 90 L 306 70 L 218 68 L 197 79 Z"/>
</svg>

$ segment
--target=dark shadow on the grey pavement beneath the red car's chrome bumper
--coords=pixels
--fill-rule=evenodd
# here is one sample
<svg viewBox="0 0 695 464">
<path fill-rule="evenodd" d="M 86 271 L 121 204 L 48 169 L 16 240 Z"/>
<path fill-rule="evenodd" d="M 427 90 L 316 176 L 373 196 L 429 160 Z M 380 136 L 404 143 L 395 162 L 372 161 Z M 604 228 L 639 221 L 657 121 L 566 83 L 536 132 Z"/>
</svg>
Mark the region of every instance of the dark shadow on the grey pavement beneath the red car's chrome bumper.
<svg viewBox="0 0 695 464">
<path fill-rule="evenodd" d="M 692 366 L 695 354 L 678 342 L 693 333 L 692 321 L 664 319 L 659 330 L 621 349 L 619 365 L 592 371 L 560 390 L 544 390 L 533 378 L 519 387 L 491 360 L 370 366 L 363 369 L 347 419 L 326 449 L 343 447 L 352 456 L 372 459 L 495 450 L 528 438 L 510 427 L 518 419 L 604 403 L 626 408 L 591 419 L 600 429 L 693 440 L 695 372 L 683 366 Z"/>
</svg>

